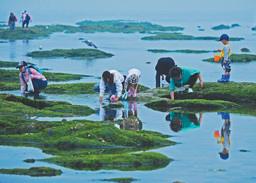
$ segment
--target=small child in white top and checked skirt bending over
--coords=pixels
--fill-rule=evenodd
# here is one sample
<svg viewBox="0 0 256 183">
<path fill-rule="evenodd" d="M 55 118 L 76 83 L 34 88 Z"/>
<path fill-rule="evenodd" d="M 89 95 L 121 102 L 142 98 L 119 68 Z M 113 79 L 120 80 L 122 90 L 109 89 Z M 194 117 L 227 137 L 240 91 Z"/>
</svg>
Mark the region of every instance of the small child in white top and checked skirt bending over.
<svg viewBox="0 0 256 183">
<path fill-rule="evenodd" d="M 141 75 L 140 70 L 136 68 L 132 68 L 128 71 L 128 76 L 126 77 L 125 83 L 124 83 L 124 90 L 126 91 L 130 90 L 127 97 L 133 97 L 133 98 L 137 97 L 136 92 L 138 89 L 138 82 L 140 80 L 140 75 Z"/>
</svg>

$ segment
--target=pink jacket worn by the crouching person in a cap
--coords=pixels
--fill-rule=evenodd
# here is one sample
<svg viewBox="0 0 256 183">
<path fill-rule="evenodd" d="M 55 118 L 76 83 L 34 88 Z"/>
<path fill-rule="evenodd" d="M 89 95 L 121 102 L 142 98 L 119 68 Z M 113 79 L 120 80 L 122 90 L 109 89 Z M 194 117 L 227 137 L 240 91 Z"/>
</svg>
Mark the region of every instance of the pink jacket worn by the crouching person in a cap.
<svg viewBox="0 0 256 183">
<path fill-rule="evenodd" d="M 38 72 L 37 70 L 35 70 L 35 68 L 29 68 L 30 72 L 32 74 L 29 74 L 28 70 L 26 70 L 25 74 L 24 74 L 24 79 L 26 81 L 26 83 L 28 83 L 29 80 L 29 76 L 31 79 L 38 79 L 38 80 L 43 80 L 46 81 L 46 78 L 44 75 L 40 74 L 40 72 Z M 24 80 L 22 79 L 22 73 L 20 73 L 20 93 L 25 93 L 26 91 L 26 83 L 24 82 Z"/>
</svg>

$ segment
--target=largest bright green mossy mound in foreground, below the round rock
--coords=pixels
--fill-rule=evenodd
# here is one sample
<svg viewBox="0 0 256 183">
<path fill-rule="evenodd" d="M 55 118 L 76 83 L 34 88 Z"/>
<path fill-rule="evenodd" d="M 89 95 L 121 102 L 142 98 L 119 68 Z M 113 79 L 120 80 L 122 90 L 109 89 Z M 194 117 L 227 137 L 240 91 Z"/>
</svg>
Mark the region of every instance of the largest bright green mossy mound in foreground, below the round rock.
<svg viewBox="0 0 256 183">
<path fill-rule="evenodd" d="M 17 126 L 15 129 L 17 129 Z M 82 122 L 81 120 L 79 122 L 58 123 L 58 126 L 56 125 L 33 134 L 28 134 L 28 131 L 24 131 L 23 134 L 19 135 L 0 136 L 0 142 L 12 141 L 35 143 L 38 147 L 59 148 L 134 147 L 138 145 L 142 147 L 154 147 L 157 145 L 173 145 L 173 141 L 164 139 L 161 136 L 121 131 L 113 125 L 104 125 L 99 122 Z"/>
</svg>

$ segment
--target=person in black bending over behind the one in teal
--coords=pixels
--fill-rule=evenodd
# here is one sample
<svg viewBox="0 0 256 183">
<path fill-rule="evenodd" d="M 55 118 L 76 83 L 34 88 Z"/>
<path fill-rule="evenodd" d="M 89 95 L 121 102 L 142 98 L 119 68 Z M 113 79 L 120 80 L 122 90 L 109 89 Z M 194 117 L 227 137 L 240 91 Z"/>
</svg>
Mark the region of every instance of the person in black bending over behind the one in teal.
<svg viewBox="0 0 256 183">
<path fill-rule="evenodd" d="M 156 65 L 156 88 L 160 87 L 160 76 L 162 77 L 161 79 L 164 80 L 164 75 L 165 80 L 167 81 L 167 83 L 170 83 L 170 75 L 169 75 L 169 71 L 171 68 L 175 67 L 177 65 L 175 65 L 175 62 L 172 58 L 170 57 L 166 57 L 166 58 L 160 58 L 157 61 L 157 65 Z"/>
</svg>

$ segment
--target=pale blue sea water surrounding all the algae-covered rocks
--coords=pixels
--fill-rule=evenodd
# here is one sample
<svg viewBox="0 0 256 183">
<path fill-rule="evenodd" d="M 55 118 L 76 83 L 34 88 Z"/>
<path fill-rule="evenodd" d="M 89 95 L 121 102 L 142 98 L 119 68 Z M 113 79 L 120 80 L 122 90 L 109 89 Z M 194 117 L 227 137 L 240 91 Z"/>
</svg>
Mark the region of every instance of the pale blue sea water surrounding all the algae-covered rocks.
<svg viewBox="0 0 256 183">
<path fill-rule="evenodd" d="M 230 37 L 241 37 L 244 40 L 230 42 L 231 53 L 242 54 L 241 49 L 250 49 L 248 54 L 256 54 L 256 34 L 252 28 L 256 26 L 256 1 L 4 1 L 0 0 L 0 24 L 7 24 L 10 12 L 19 20 L 26 10 L 31 15 L 35 25 L 66 24 L 76 26 L 83 20 L 134 20 L 150 22 L 161 26 L 179 26 L 178 31 L 192 36 L 220 36 L 227 33 Z M 220 24 L 239 24 L 239 27 L 213 30 Z M 19 22 L 19 26 L 20 22 Z M 200 26 L 200 28 L 199 28 Z M 199 31 L 198 29 L 205 29 Z M 86 74 L 101 76 L 104 70 L 115 69 L 127 74 L 131 68 L 141 70 L 140 84 L 150 88 L 155 87 L 155 66 L 161 57 L 172 57 L 179 66 L 197 68 L 204 82 L 214 82 L 220 79 L 223 70 L 218 63 L 208 63 L 203 59 L 212 58 L 214 52 L 204 54 L 152 53 L 148 49 L 193 49 L 214 51 L 222 49 L 221 42 L 213 40 L 141 40 L 147 34 L 141 33 L 53 33 L 47 38 L 35 40 L 15 40 L 0 43 L 0 60 L 26 60 L 35 63 L 40 68 L 52 69 L 50 72 L 70 74 Z M 100 51 L 114 54 L 112 58 L 84 60 L 72 58 L 29 58 L 28 52 L 38 51 L 39 44 L 43 50 L 90 48 L 79 38 L 91 40 Z M 3 40 L 6 41 L 6 40 Z M 145 62 L 150 61 L 150 64 Z M 232 63 L 231 81 L 255 83 L 256 61 L 250 63 Z M 7 69 L 7 68 L 6 68 Z M 9 69 L 9 68 L 8 68 Z M 14 69 L 14 68 L 13 68 Z M 98 82 L 99 79 L 81 79 L 77 82 Z M 53 82 L 49 82 L 52 84 Z M 54 82 L 56 83 L 56 82 Z M 164 83 L 167 86 L 167 83 Z M 20 95 L 20 91 L 13 93 Z M 99 108 L 98 95 L 58 95 L 40 94 L 47 100 L 65 100 L 72 104 Z M 134 105 L 134 104 L 133 104 Z M 102 179 L 132 177 L 135 182 L 256 182 L 256 118 L 255 116 L 230 114 L 230 157 L 220 158 L 222 147 L 214 138 L 214 131 L 221 129 L 224 120 L 220 114 L 204 113 L 200 127 L 189 131 L 174 132 L 170 121 L 166 120 L 168 113 L 154 111 L 136 102 L 138 118 L 143 122 L 143 130 L 170 134 L 173 141 L 179 142 L 172 147 L 152 150 L 160 152 L 174 161 L 165 168 L 152 171 L 77 171 L 63 168 L 55 164 L 36 161 L 34 164 L 24 163 L 24 159 L 43 159 L 51 157 L 42 150 L 29 147 L 0 146 L 0 168 L 30 168 L 47 166 L 61 169 L 63 174 L 56 177 L 29 177 L 27 175 L 0 174 L 0 182 L 104 182 Z M 134 110 L 134 106 L 131 107 Z M 124 111 L 126 109 L 123 109 Z M 200 114 L 195 114 L 198 118 Z M 90 120 L 100 120 L 99 115 L 86 117 Z M 38 118 L 38 120 L 52 120 Z M 61 118 L 54 118 L 60 121 Z M 52 121 L 54 121 L 52 120 Z M 72 119 L 70 119 L 72 120 Z M 239 150 L 248 150 L 241 152 Z M 225 170 L 225 171 L 220 171 Z"/>
</svg>

